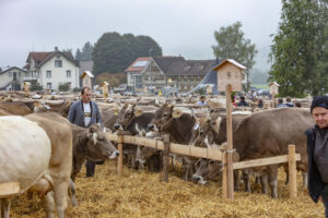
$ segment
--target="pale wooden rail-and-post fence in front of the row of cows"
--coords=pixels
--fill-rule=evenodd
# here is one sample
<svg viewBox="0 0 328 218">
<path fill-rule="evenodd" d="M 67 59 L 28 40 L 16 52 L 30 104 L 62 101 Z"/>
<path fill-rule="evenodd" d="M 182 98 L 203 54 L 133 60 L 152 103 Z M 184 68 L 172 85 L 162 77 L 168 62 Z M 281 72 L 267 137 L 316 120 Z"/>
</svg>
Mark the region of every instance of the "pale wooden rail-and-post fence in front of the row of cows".
<svg viewBox="0 0 328 218">
<path fill-rule="evenodd" d="M 226 177 L 227 172 L 227 161 L 226 156 L 227 152 L 221 152 L 218 148 L 202 148 L 202 147 L 194 147 L 189 145 L 183 145 L 183 144 L 176 144 L 176 143 L 169 143 L 168 135 L 164 135 L 164 141 L 161 140 L 154 140 L 154 138 L 148 138 L 148 137 L 140 137 L 140 136 L 131 136 L 131 135 L 125 135 L 124 132 L 119 131 L 118 134 L 108 134 L 108 140 L 113 142 L 118 143 L 118 150 L 120 153 L 118 157 L 118 164 L 117 164 L 117 172 L 118 175 L 122 175 L 122 150 L 124 146 L 122 144 L 132 144 L 132 145 L 141 145 L 147 147 L 152 147 L 159 150 L 163 150 L 163 172 L 162 172 L 162 181 L 168 181 L 168 155 L 169 153 L 174 153 L 177 155 L 186 155 L 197 158 L 204 158 L 204 159 L 211 159 L 211 160 L 219 160 L 223 161 L 223 177 L 222 177 L 222 190 L 223 190 L 223 196 L 227 198 L 227 184 L 232 183 L 233 185 L 233 179 L 232 181 L 229 180 L 229 177 Z M 296 161 L 301 160 L 301 155 L 295 153 L 295 145 L 289 145 L 289 154 L 288 155 L 281 155 L 281 156 L 274 156 L 274 157 L 268 157 L 268 158 L 260 158 L 260 159 L 253 159 L 253 160 L 246 160 L 246 161 L 238 161 L 233 162 L 233 169 L 245 169 L 245 168 L 254 168 L 254 167 L 263 167 L 269 165 L 278 165 L 278 164 L 284 164 L 288 162 L 289 165 L 289 189 L 290 189 L 290 198 L 297 197 L 297 185 L 296 185 Z"/>
</svg>

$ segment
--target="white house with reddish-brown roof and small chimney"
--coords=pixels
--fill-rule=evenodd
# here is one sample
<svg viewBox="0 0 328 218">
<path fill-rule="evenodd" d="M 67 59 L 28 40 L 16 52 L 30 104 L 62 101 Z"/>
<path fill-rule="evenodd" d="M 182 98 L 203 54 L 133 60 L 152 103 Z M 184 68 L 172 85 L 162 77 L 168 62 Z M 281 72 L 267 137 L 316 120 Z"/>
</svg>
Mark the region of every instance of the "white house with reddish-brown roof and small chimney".
<svg viewBox="0 0 328 218">
<path fill-rule="evenodd" d="M 71 52 L 30 52 L 26 65 L 26 82 L 38 83 L 44 89 L 58 89 L 60 84 L 80 87 L 79 64 Z"/>
</svg>

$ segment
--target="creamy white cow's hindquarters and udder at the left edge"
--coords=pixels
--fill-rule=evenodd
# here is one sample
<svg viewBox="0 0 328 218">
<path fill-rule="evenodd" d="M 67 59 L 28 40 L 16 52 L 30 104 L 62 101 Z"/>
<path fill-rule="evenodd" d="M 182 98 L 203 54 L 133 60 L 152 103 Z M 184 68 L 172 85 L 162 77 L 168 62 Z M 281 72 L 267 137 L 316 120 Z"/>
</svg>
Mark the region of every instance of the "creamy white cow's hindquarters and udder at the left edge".
<svg viewBox="0 0 328 218">
<path fill-rule="evenodd" d="M 0 183 L 20 182 L 21 194 L 28 189 L 47 193 L 51 181 L 48 165 L 51 144 L 36 122 L 17 116 L 0 117 Z M 8 218 L 10 199 L 1 199 L 1 217 Z"/>
</svg>

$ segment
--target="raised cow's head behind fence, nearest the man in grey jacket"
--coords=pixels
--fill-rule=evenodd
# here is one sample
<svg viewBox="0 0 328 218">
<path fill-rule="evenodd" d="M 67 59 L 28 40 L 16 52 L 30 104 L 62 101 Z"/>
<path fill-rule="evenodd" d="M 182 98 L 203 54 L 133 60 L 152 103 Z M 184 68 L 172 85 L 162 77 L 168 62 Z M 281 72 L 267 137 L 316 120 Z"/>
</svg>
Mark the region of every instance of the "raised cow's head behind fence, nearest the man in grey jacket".
<svg viewBox="0 0 328 218">
<path fill-rule="evenodd" d="M 114 130 L 127 130 L 129 124 L 134 119 L 134 107 L 136 105 L 125 104 L 120 109 L 116 123 L 114 124 Z"/>
</svg>

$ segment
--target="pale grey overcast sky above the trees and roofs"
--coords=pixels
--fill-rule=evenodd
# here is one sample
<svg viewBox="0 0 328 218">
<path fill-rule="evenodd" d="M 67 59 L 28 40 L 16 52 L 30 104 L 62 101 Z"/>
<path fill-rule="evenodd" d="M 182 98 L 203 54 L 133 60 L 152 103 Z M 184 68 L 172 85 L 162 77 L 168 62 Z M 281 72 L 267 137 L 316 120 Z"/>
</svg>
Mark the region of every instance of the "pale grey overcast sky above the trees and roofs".
<svg viewBox="0 0 328 218">
<path fill-rule="evenodd" d="M 241 21 L 256 66 L 268 69 L 280 10 L 280 0 L 0 0 L 0 66 L 22 68 L 30 51 L 55 46 L 74 55 L 106 32 L 148 35 L 165 56 L 212 59 L 214 31 Z"/>
</svg>

